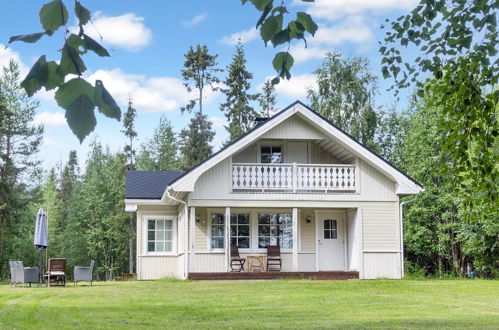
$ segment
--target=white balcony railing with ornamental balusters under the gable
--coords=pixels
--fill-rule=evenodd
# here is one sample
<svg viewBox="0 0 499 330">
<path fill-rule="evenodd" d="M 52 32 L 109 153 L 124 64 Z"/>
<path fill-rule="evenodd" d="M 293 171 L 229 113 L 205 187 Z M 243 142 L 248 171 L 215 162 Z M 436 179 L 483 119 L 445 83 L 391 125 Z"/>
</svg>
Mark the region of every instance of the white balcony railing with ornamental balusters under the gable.
<svg viewBox="0 0 499 330">
<path fill-rule="evenodd" d="M 355 165 L 344 164 L 232 164 L 232 189 L 354 192 L 355 172 Z"/>
</svg>

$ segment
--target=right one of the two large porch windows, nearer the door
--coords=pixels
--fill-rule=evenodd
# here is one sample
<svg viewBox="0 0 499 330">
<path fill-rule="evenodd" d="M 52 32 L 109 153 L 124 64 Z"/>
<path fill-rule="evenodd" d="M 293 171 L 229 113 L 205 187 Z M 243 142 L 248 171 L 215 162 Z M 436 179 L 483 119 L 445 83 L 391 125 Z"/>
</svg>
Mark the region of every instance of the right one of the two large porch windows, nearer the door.
<svg viewBox="0 0 499 330">
<path fill-rule="evenodd" d="M 291 214 L 263 213 L 258 215 L 258 247 L 279 245 L 293 247 L 293 217 Z"/>
</svg>

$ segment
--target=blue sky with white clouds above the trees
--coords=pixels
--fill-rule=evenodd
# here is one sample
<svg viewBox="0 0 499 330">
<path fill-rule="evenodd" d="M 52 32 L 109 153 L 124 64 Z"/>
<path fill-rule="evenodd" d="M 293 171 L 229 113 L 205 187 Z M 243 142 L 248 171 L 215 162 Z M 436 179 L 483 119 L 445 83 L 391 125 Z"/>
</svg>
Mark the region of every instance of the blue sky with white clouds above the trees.
<svg viewBox="0 0 499 330">
<path fill-rule="evenodd" d="M 42 31 L 38 12 L 48 0 L 3 1 L 0 10 L 0 67 L 10 58 L 21 66 L 24 76 L 40 55 L 47 60 L 59 60 L 58 50 L 63 43 L 62 29 L 53 37 L 44 37 L 35 44 L 14 43 L 5 48 L 12 35 Z M 74 28 L 73 1 L 64 1 L 70 12 L 68 26 Z M 128 99 L 133 99 L 138 111 L 136 130 L 138 143 L 149 139 L 161 116 L 173 124 L 176 132 L 186 126 L 189 114 L 181 114 L 180 107 L 192 95 L 183 86 L 180 70 L 189 46 L 206 44 L 211 54 L 218 54 L 219 67 L 230 64 L 238 39 L 244 44 L 247 68 L 253 73 L 251 92 L 259 92 L 263 82 L 275 75 L 273 55 L 282 50 L 265 47 L 255 29 L 259 13 L 250 4 L 239 0 L 81 0 L 92 12 L 93 24 L 85 27 L 90 36 L 109 50 L 111 57 L 83 56 L 88 71 L 85 78 L 100 79 L 121 107 L 126 111 Z M 290 52 L 295 58 L 293 77 L 277 85 L 277 106 L 283 108 L 295 100 L 306 102 L 307 88 L 314 88 L 312 72 L 317 69 L 328 51 L 346 56 L 362 56 L 379 79 L 379 106 L 405 107 L 403 97 L 396 100 L 386 89 L 390 80 L 381 78 L 378 42 L 384 31 L 385 19 L 394 19 L 414 8 L 415 0 L 301 0 L 285 1 L 289 10 L 305 11 L 312 15 L 319 29 L 314 38 L 293 43 Z M 219 78 L 225 78 L 225 72 Z M 84 166 L 90 143 L 94 140 L 119 151 L 125 145 L 122 123 L 97 113 L 97 127 L 82 144 L 68 128 L 64 110 L 53 100 L 54 91 L 39 91 L 34 97 L 40 101 L 33 124 L 45 126 L 44 141 L 39 157 L 45 169 L 64 164 L 70 150 L 76 150 L 80 165 Z M 216 137 L 214 151 L 227 139 L 226 124 L 219 105 L 220 92 L 208 92 L 204 112 L 213 122 Z M 257 107 L 257 104 L 254 104 Z M 122 116 L 123 117 L 123 116 Z"/>
</svg>

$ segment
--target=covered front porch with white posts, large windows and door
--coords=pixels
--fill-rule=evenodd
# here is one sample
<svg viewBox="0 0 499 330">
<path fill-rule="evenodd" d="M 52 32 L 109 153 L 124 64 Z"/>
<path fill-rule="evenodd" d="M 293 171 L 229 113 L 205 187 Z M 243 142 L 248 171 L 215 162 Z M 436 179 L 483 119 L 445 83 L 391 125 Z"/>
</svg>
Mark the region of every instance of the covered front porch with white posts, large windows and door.
<svg viewBox="0 0 499 330">
<path fill-rule="evenodd" d="M 189 278 L 359 276 L 356 209 L 191 207 L 190 217 Z M 281 248 L 280 272 L 248 272 L 248 262 L 242 272 L 230 272 L 230 246 L 239 246 L 240 257 L 247 260 L 265 257 L 267 245 Z"/>
</svg>

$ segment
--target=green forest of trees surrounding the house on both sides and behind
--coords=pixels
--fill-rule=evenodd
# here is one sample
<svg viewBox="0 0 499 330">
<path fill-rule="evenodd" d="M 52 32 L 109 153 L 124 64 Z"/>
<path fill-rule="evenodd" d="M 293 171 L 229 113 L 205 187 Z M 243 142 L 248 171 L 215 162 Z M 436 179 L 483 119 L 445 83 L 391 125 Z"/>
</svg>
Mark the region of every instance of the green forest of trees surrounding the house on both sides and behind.
<svg viewBox="0 0 499 330">
<path fill-rule="evenodd" d="M 404 207 L 404 257 L 409 276 L 463 277 L 468 264 L 480 277 L 499 276 L 497 4 L 484 3 L 488 7 L 480 11 L 475 25 L 475 29 L 487 31 L 481 35 L 482 44 L 469 41 L 467 45 L 463 35 L 468 32 L 456 25 L 463 12 L 475 13 L 469 8 L 460 12 L 456 6 L 453 13 L 432 8 L 444 15 L 442 21 L 449 26 L 447 39 L 457 40 L 447 43 L 437 35 L 438 27 L 423 32 L 425 19 L 430 20 L 419 17 L 416 8 L 411 15 L 387 24 L 394 32 L 387 33 L 380 46 L 382 77 L 371 70 L 367 59 L 331 51 L 313 71 L 317 88 L 310 88 L 303 100 L 424 187 L 424 192 Z M 434 47 L 433 41 L 438 46 Z M 436 52 L 433 60 L 403 63 L 397 45 L 419 46 L 421 42 L 424 51 Z M 461 51 L 466 45 L 467 56 L 453 55 L 456 47 Z M 447 56 L 445 63 L 441 56 Z M 454 57 L 449 60 L 449 56 Z M 93 259 L 100 280 L 133 273 L 135 219 L 124 207 L 126 171 L 186 170 L 216 151 L 213 125 L 203 112 L 207 89 L 222 95 L 219 109 L 227 119 L 229 135 L 225 143 L 250 130 L 256 117 L 279 110 L 275 81 L 268 80 L 253 92 L 253 75 L 241 43 L 225 65 L 202 44 L 191 46 L 184 57 L 179 72 L 186 90 L 198 95 L 179 109 L 190 118 L 185 128 L 174 131 L 165 115 L 153 135 L 138 144 L 138 140 L 144 141 L 134 126 L 140 109 L 135 109 L 130 99 L 122 116 L 123 129 L 115 132 L 126 141 L 122 150 L 111 152 L 104 142 L 94 139 L 85 163 L 79 161 L 82 155 L 71 151 L 63 164 L 49 170 L 37 156 L 44 128 L 32 124 L 39 104 L 23 88 L 18 64 L 11 61 L 3 68 L 0 279 L 9 276 L 8 260 L 39 264 L 33 234 L 40 207 L 48 214 L 49 257 L 66 257 L 68 270 Z M 430 74 L 408 87 L 419 71 Z M 395 90 L 412 88 L 406 107 L 376 103 L 376 95 L 387 93 L 380 91 L 379 79 L 389 77 L 395 81 Z"/>
</svg>

